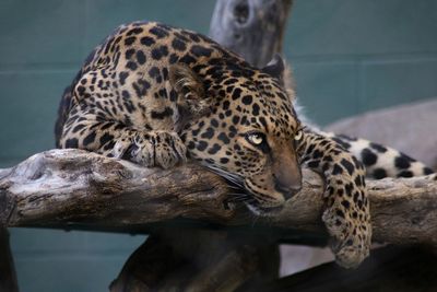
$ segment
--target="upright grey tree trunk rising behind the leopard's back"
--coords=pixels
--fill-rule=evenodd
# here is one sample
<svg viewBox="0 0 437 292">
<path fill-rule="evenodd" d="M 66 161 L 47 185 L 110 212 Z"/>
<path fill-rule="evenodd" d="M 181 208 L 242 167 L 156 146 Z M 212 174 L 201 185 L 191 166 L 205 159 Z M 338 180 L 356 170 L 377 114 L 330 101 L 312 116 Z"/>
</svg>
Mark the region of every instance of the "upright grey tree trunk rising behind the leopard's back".
<svg viewBox="0 0 437 292">
<path fill-rule="evenodd" d="M 292 0 L 217 0 L 210 36 L 261 68 L 282 51 Z"/>
</svg>

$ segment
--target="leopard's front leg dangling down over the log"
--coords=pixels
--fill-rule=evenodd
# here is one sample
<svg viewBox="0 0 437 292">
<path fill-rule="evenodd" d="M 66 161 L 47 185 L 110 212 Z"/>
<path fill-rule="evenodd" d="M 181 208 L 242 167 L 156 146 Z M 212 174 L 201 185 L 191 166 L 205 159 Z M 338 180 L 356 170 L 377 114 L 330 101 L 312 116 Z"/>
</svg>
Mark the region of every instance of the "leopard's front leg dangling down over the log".
<svg viewBox="0 0 437 292">
<path fill-rule="evenodd" d="M 322 221 L 332 236 L 336 262 L 357 267 L 369 255 L 371 242 L 363 165 L 335 141 L 311 131 L 304 132 L 297 151 L 302 164 L 324 176 Z"/>
</svg>

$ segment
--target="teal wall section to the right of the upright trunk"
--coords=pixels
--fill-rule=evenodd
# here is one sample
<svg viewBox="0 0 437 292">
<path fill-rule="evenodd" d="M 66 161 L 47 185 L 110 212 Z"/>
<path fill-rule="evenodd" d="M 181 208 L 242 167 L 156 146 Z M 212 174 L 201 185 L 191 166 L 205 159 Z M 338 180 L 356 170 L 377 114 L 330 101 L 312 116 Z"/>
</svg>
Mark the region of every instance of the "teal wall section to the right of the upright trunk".
<svg viewBox="0 0 437 292">
<path fill-rule="evenodd" d="M 296 0 L 286 44 L 319 124 L 437 97 L 437 1 Z"/>
</svg>

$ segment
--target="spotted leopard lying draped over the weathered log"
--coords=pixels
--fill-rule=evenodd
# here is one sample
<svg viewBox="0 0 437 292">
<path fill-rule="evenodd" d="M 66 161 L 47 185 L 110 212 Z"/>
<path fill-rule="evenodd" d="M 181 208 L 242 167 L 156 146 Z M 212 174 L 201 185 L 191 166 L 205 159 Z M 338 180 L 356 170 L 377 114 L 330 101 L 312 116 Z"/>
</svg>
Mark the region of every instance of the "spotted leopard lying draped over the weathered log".
<svg viewBox="0 0 437 292">
<path fill-rule="evenodd" d="M 324 179 L 321 219 L 336 262 L 355 268 L 371 242 L 366 170 L 344 139 L 299 119 L 284 68 L 279 55 L 256 68 L 189 30 L 120 25 L 66 89 L 56 145 L 144 167 L 201 164 L 264 217 L 281 212 L 302 189 L 302 168 L 310 168 Z"/>
</svg>

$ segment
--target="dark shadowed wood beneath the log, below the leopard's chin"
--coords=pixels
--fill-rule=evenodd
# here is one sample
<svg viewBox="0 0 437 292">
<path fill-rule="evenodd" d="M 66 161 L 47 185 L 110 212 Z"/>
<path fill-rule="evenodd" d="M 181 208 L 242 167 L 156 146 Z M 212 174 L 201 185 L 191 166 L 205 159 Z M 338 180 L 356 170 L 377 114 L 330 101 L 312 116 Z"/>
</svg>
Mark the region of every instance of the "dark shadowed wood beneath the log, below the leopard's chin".
<svg viewBox="0 0 437 292">
<path fill-rule="evenodd" d="M 234 291 L 246 282 L 256 288 L 277 279 L 277 244 L 265 236 L 241 237 L 225 230 L 155 231 L 110 291 Z"/>
</svg>

